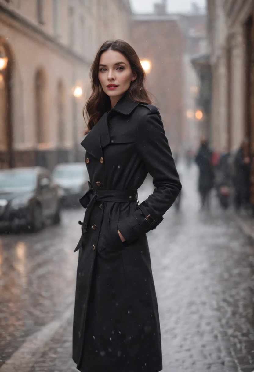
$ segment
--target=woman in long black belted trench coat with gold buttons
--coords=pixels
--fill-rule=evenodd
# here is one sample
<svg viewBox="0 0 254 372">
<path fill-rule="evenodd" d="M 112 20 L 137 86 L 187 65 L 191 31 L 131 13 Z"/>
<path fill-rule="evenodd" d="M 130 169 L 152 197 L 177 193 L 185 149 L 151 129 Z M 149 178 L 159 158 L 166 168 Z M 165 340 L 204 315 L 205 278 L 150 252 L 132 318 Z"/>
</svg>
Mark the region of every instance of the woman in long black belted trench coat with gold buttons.
<svg viewBox="0 0 254 372">
<path fill-rule="evenodd" d="M 146 232 L 181 189 L 159 111 L 134 49 L 107 41 L 91 67 L 81 142 L 91 183 L 80 199 L 73 359 L 84 372 L 162 370 L 159 315 Z M 138 205 L 147 173 L 156 189 Z M 158 247 L 159 249 L 159 247 Z"/>
</svg>

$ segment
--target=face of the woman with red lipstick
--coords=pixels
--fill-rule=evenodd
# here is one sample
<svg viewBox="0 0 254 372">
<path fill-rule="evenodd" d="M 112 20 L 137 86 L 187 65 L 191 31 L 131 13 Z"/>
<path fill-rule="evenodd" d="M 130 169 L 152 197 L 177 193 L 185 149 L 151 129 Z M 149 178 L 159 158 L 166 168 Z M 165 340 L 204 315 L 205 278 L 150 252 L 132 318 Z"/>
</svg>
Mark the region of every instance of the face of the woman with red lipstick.
<svg viewBox="0 0 254 372">
<path fill-rule="evenodd" d="M 108 49 L 101 55 L 98 78 L 108 96 L 120 98 L 137 76 L 132 72 L 130 63 L 123 54 Z"/>
</svg>

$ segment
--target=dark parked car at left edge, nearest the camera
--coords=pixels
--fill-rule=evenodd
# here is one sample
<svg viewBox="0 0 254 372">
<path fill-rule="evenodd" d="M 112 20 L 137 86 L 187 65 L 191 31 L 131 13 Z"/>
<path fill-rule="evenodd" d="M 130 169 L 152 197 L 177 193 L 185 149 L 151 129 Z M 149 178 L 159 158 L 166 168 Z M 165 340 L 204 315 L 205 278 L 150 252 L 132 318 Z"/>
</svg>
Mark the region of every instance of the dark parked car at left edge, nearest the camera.
<svg viewBox="0 0 254 372">
<path fill-rule="evenodd" d="M 42 167 L 0 170 L 0 228 L 40 230 L 60 222 L 61 189 Z"/>
</svg>

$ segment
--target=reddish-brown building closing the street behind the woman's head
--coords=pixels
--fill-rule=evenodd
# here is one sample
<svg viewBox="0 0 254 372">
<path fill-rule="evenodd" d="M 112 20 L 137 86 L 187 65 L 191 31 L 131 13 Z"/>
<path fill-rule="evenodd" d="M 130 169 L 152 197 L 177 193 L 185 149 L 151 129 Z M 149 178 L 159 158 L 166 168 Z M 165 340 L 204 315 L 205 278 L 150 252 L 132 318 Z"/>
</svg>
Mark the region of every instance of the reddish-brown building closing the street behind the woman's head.
<svg viewBox="0 0 254 372">
<path fill-rule="evenodd" d="M 160 110 L 172 150 L 179 150 L 184 121 L 184 76 L 183 35 L 178 17 L 166 14 L 166 1 L 155 4 L 153 14 L 133 16 L 132 39 L 139 57 L 151 62 L 147 89 Z"/>
</svg>

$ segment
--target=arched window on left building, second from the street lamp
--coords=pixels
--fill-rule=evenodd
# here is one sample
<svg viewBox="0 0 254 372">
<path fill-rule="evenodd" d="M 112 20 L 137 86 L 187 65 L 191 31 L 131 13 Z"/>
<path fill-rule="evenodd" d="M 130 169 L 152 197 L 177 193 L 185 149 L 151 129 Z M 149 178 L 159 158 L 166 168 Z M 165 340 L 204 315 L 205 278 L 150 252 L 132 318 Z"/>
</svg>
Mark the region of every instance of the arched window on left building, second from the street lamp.
<svg viewBox="0 0 254 372">
<path fill-rule="evenodd" d="M 46 78 L 44 72 L 38 70 L 35 76 L 36 140 L 38 144 L 46 142 L 45 100 Z"/>
</svg>

